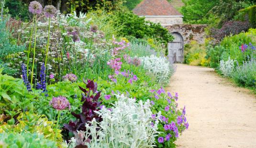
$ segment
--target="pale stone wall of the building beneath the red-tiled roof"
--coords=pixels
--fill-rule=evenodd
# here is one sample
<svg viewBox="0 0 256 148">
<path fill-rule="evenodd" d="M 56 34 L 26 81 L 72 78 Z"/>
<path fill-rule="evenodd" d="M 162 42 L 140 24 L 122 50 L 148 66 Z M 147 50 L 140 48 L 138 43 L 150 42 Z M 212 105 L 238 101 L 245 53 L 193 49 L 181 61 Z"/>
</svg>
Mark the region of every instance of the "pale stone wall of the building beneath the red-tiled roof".
<svg viewBox="0 0 256 148">
<path fill-rule="evenodd" d="M 145 20 L 149 20 L 155 23 L 160 23 L 161 25 L 165 26 L 165 25 L 172 25 L 172 24 L 183 24 L 183 18 L 182 17 L 175 17 L 175 16 L 146 16 Z"/>
</svg>

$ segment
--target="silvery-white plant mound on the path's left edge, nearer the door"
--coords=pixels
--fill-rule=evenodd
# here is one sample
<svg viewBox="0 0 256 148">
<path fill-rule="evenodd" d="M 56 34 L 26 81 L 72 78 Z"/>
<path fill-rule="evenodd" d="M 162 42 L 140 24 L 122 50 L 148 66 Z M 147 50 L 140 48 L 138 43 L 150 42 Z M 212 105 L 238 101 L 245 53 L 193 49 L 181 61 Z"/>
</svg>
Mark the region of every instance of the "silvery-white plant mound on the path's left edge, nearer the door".
<svg viewBox="0 0 256 148">
<path fill-rule="evenodd" d="M 150 57 L 141 57 L 140 60 L 143 68 L 151 72 L 159 83 L 168 83 L 174 69 L 166 58 L 151 55 Z"/>
</svg>

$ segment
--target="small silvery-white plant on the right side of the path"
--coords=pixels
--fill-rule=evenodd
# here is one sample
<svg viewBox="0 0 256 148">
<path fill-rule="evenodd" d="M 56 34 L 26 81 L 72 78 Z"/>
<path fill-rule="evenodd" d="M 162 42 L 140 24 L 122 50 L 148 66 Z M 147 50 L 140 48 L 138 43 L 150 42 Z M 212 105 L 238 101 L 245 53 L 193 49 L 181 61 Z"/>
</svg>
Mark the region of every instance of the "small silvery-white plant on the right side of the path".
<svg viewBox="0 0 256 148">
<path fill-rule="evenodd" d="M 234 62 L 235 60 L 228 58 L 227 61 L 221 60 L 220 62 L 220 70 L 225 77 L 230 77 L 232 72 L 234 71 Z"/>
</svg>

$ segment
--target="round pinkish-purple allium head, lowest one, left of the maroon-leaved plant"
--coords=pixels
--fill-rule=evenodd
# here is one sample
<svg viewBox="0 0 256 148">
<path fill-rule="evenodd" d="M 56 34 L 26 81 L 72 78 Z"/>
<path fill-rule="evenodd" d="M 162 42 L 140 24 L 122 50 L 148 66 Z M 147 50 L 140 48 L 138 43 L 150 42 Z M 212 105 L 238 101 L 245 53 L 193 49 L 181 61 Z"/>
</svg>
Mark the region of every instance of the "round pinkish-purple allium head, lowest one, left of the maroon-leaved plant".
<svg viewBox="0 0 256 148">
<path fill-rule="evenodd" d="M 53 97 L 53 99 L 49 102 L 49 104 L 57 110 L 63 110 L 63 109 L 70 109 L 71 106 L 67 100 L 66 97 L 59 96 L 59 97 Z"/>
</svg>

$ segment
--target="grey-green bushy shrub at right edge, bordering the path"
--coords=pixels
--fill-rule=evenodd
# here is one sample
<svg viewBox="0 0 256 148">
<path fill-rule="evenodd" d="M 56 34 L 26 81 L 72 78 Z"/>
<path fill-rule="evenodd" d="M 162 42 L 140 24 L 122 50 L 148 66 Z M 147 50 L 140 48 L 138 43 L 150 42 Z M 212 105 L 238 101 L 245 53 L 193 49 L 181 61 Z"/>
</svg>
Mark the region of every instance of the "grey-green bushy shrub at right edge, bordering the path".
<svg viewBox="0 0 256 148">
<path fill-rule="evenodd" d="M 249 61 L 245 61 L 243 65 L 238 66 L 232 78 L 236 83 L 242 86 L 253 87 L 256 81 L 256 59 L 252 58 Z"/>
</svg>

